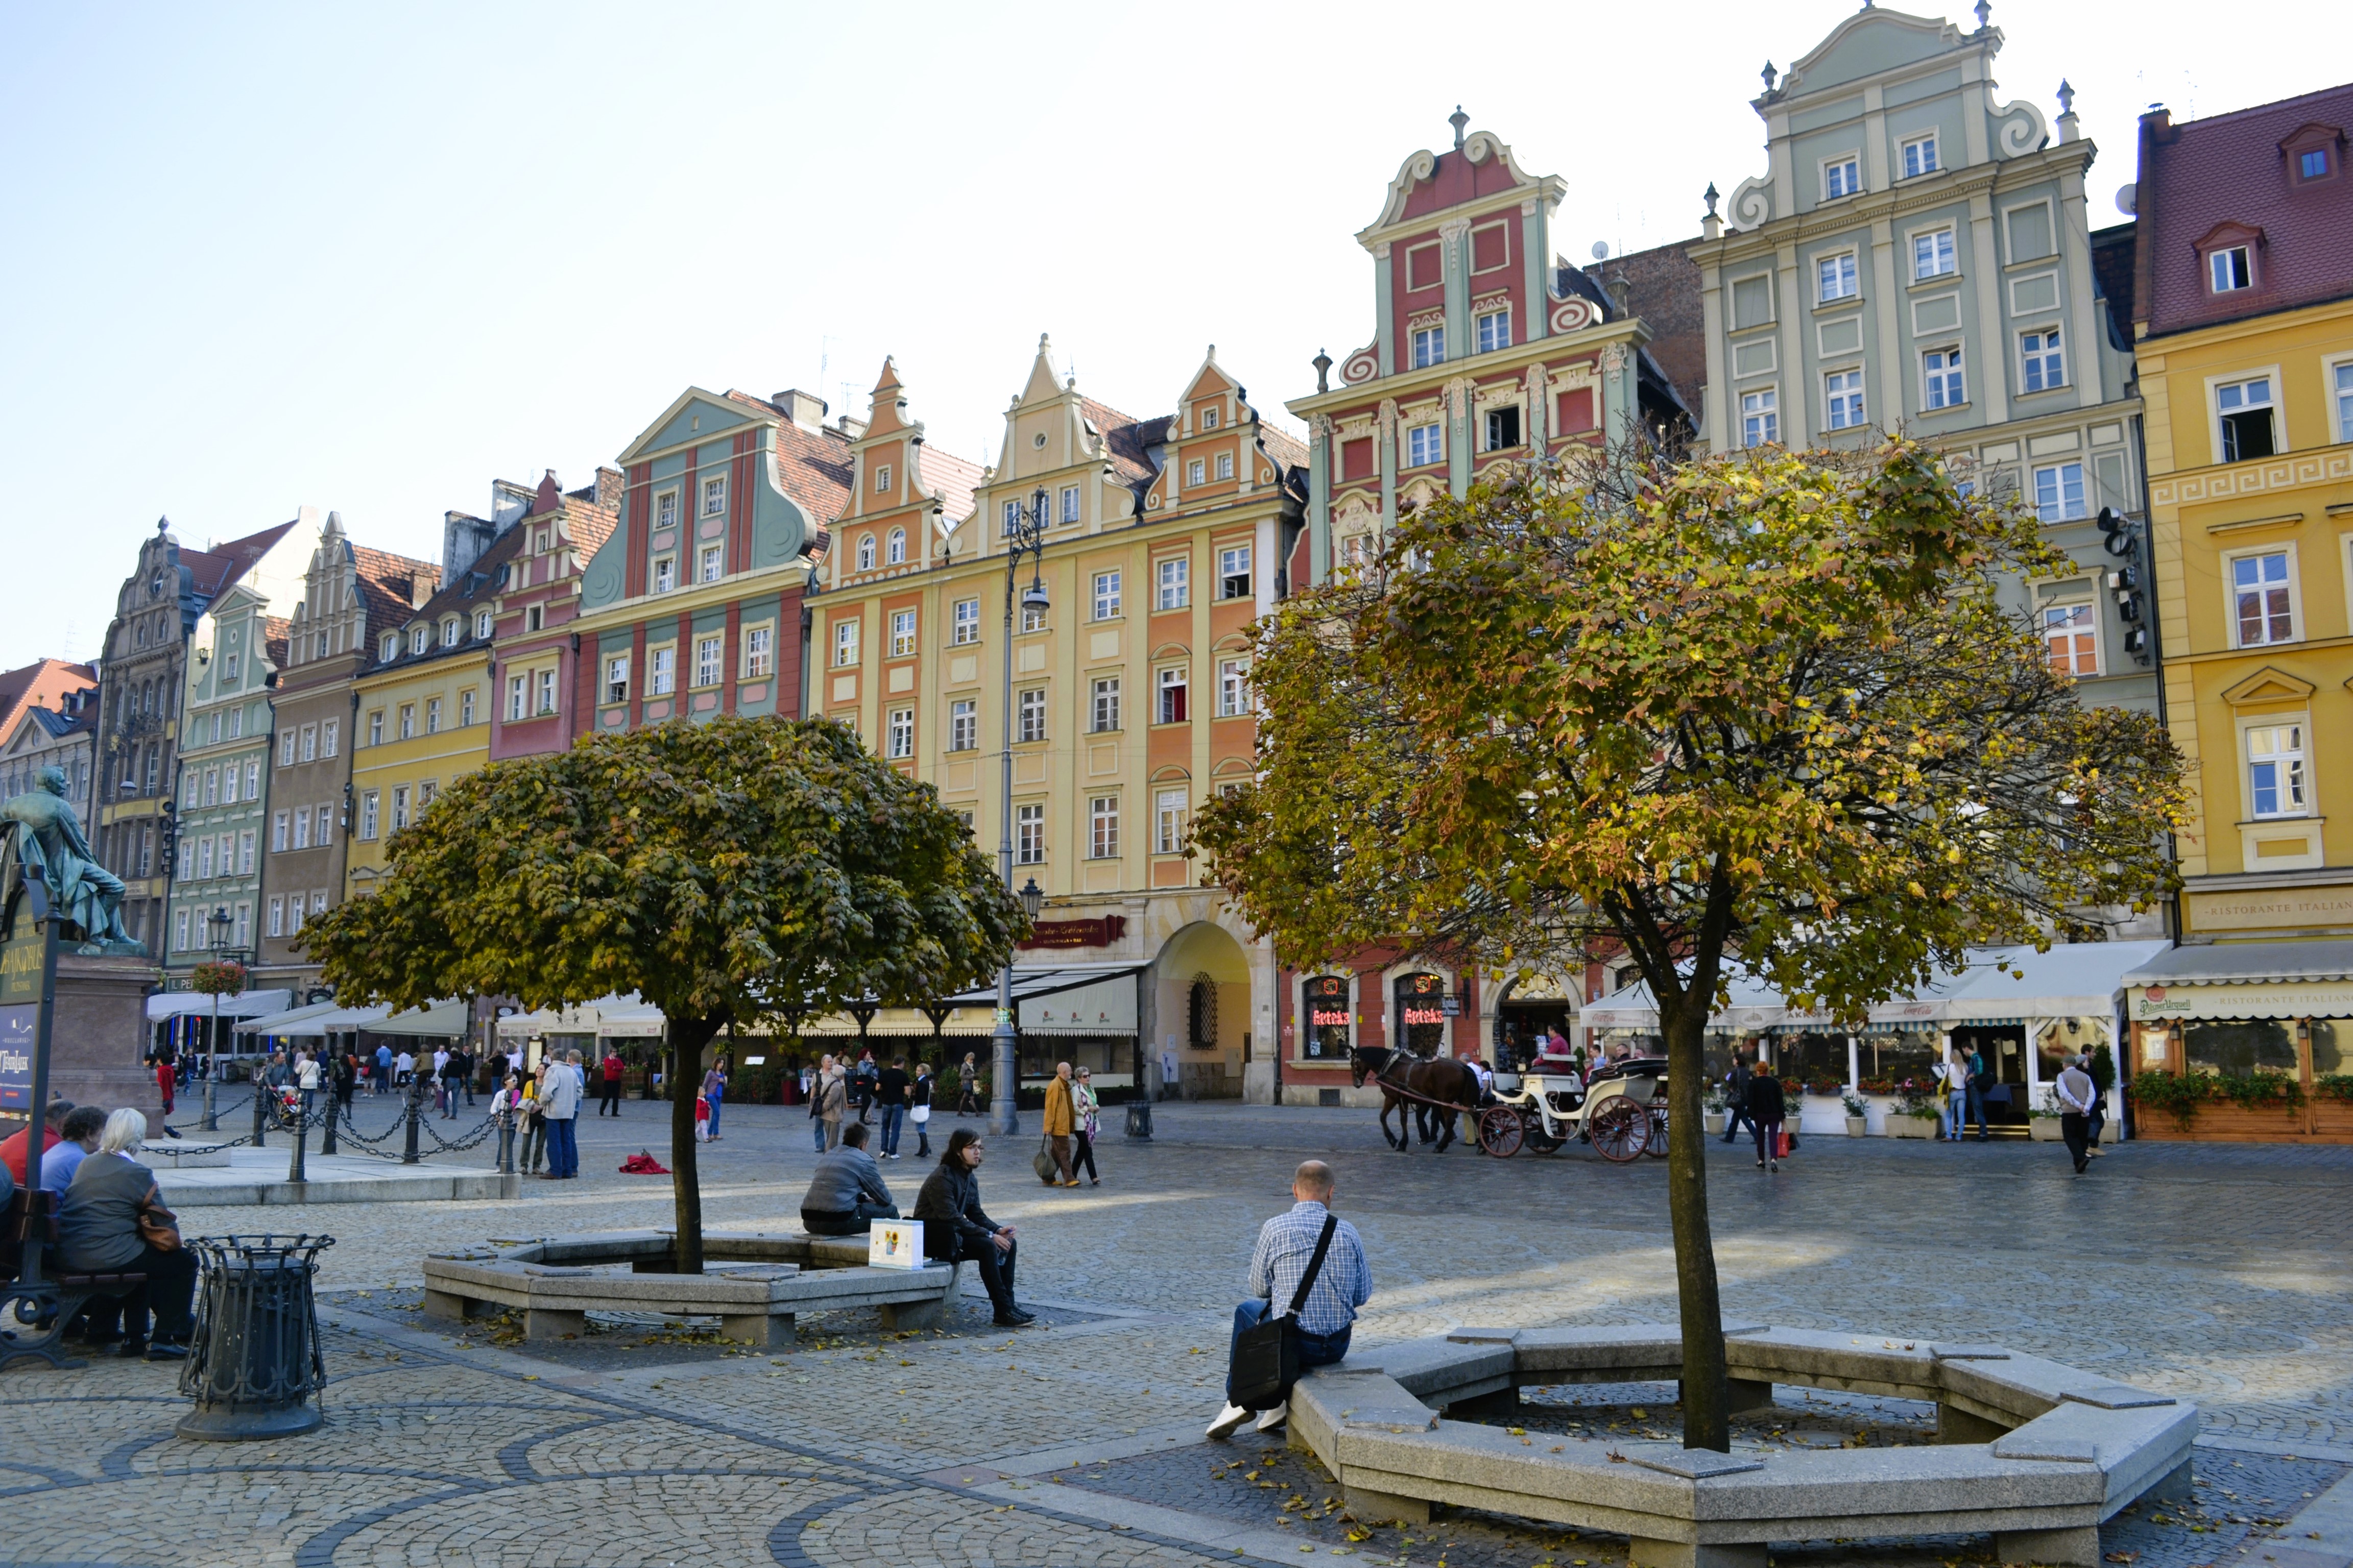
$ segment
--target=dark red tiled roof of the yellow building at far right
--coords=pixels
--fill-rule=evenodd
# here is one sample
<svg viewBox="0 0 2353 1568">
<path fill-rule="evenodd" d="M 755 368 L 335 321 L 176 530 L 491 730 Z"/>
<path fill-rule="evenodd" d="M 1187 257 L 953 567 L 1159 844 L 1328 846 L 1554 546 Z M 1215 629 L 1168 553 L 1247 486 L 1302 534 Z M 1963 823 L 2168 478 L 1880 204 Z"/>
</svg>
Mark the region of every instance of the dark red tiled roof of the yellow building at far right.
<svg viewBox="0 0 2353 1568">
<path fill-rule="evenodd" d="M 2315 125 L 2334 132 L 2332 172 L 2306 183 L 2280 143 Z M 2344 242 L 2353 233 L 2346 129 L 2353 129 L 2353 85 L 2188 125 L 2172 125 L 2165 110 L 2144 115 L 2134 320 L 2155 336 L 2353 294 L 2353 254 Z M 2261 230 L 2252 289 L 2207 289 L 2198 242 L 2221 223 Z"/>
</svg>

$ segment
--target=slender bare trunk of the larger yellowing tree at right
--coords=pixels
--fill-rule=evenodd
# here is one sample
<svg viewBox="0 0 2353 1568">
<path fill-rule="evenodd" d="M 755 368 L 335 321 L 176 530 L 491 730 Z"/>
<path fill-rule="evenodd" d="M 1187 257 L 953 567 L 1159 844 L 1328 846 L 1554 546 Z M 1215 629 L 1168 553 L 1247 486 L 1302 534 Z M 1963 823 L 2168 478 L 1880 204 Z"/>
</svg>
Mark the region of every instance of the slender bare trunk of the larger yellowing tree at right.
<svg viewBox="0 0 2353 1568">
<path fill-rule="evenodd" d="M 1666 1204 L 1675 1220 L 1675 1298 L 1682 1307 L 1682 1446 L 1729 1453 L 1725 1316 L 1715 1288 L 1715 1239 L 1708 1234 L 1708 1128 L 1699 1110 L 1713 985 L 1708 992 L 1694 987 L 1682 1006 L 1659 1009 L 1666 1034 Z"/>
</svg>

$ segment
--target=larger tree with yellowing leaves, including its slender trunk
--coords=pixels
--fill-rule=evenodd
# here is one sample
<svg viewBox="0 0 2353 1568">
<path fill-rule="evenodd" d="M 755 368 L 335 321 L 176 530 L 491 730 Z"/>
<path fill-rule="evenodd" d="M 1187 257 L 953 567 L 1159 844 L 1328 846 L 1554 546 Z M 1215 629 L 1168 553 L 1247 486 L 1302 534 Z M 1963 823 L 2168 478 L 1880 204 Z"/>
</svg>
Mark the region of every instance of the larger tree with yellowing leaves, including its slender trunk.
<svg viewBox="0 0 2353 1568">
<path fill-rule="evenodd" d="M 1195 830 L 1287 964 L 1624 947 L 1668 1053 L 1685 1443 L 1725 1448 L 1704 1037 L 1739 961 L 1859 1018 L 2169 870 L 2181 764 L 2089 710 L 2005 574 L 2068 569 L 1908 440 L 1520 470 L 1261 623 L 1259 776 Z"/>
</svg>

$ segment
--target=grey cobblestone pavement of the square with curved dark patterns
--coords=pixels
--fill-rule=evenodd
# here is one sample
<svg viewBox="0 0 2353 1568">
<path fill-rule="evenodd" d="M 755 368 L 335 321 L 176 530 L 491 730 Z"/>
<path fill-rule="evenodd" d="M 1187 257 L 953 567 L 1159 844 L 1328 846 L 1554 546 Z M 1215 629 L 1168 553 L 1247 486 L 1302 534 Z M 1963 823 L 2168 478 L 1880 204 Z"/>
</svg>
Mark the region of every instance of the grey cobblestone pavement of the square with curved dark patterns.
<svg viewBox="0 0 2353 1568">
<path fill-rule="evenodd" d="M 1202 1443 L 1200 1427 L 1249 1241 L 1301 1157 L 1334 1161 L 1337 1206 L 1372 1253 L 1360 1345 L 1454 1324 L 1673 1321 L 1659 1161 L 1395 1154 L 1369 1112 L 1165 1105 L 1155 1143 L 1104 1140 L 1101 1187 L 1042 1190 L 1026 1140 L 993 1147 L 984 1197 L 1021 1229 L 1042 1328 L 1002 1333 L 965 1302 L 922 1335 L 805 1316 L 791 1347 L 746 1352 L 696 1324 L 600 1321 L 579 1342 L 525 1345 L 501 1324 L 421 1321 L 426 1251 L 668 1222 L 666 1180 L 614 1171 L 640 1147 L 668 1159 L 666 1107 L 624 1110 L 581 1121 L 584 1180 L 525 1182 L 518 1201 L 184 1211 L 188 1234 L 268 1220 L 339 1239 L 320 1279 L 325 1429 L 186 1443 L 167 1366 L 19 1368 L 0 1378 L 0 1561 L 1174 1568 L 1308 1547 L 1445 1568 L 1624 1563 L 1621 1540 L 1468 1514 L 1367 1530 L 1325 1507 L 1306 1455 Z M 807 1121 L 732 1105 L 725 1131 L 701 1150 L 708 1225 L 791 1227 Z M 885 1166 L 901 1204 L 927 1168 L 913 1135 L 906 1154 Z M 2118 1561 L 2353 1556 L 2294 1523 L 2353 1462 L 2353 1150 L 2127 1145 L 2075 1178 L 2049 1145 L 1809 1138 L 1779 1175 L 1711 1145 L 1708 1175 L 1727 1312 L 2002 1340 L 2195 1399 L 2202 1509 L 2115 1521 Z M 1520 1420 L 1673 1432 L 1671 1399 L 1562 1389 Z M 1744 1441 L 1901 1441 L 1918 1410 L 1793 1394 L 1777 1422 Z M 1774 1559 L 1925 1568 L 1986 1547 L 1814 1542 Z"/>
</svg>

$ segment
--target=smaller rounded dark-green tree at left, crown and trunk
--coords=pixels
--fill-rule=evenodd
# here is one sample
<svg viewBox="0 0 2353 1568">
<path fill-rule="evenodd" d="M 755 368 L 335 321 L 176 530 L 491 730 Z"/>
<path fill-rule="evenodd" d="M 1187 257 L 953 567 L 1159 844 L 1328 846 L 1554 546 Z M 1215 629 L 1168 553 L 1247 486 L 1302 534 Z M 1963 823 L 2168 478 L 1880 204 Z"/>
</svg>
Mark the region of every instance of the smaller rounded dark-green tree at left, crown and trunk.
<svg viewBox="0 0 2353 1568">
<path fill-rule="evenodd" d="M 678 1267 L 699 1274 L 694 1095 L 720 1030 L 929 1001 L 993 973 L 1024 924 L 936 792 L 849 729 L 718 717 L 468 773 L 304 943 L 351 1004 L 659 1006 Z"/>
</svg>

